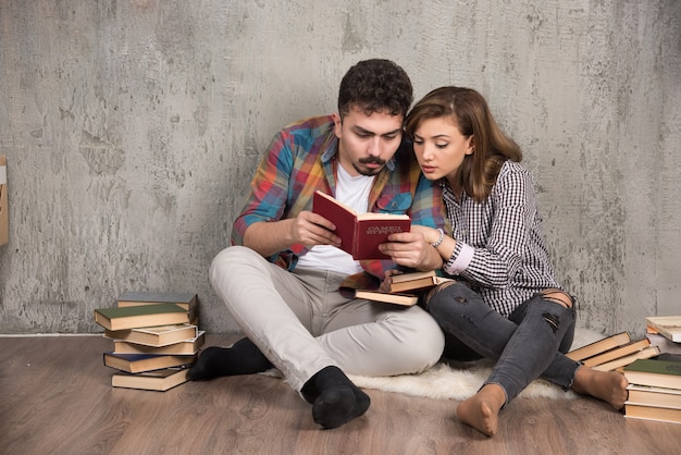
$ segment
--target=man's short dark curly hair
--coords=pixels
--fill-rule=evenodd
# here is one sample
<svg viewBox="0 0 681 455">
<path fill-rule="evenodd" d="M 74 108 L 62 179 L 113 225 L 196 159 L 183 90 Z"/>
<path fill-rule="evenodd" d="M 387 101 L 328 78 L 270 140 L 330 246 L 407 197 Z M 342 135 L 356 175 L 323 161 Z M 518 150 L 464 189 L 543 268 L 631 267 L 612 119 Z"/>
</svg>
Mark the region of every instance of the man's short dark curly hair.
<svg viewBox="0 0 681 455">
<path fill-rule="evenodd" d="M 412 101 L 413 88 L 405 70 L 385 59 L 363 60 L 343 76 L 338 114 L 343 119 L 357 108 L 367 115 L 385 112 L 404 118 Z"/>
</svg>

